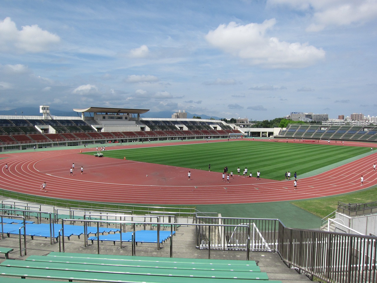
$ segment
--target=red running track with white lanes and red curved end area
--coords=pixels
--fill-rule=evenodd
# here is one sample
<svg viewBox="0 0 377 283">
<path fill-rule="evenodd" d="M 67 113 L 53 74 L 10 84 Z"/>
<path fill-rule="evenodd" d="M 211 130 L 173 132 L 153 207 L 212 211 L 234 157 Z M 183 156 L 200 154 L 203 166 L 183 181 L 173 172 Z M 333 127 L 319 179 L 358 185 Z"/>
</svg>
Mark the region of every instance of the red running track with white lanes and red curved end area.
<svg viewBox="0 0 377 283">
<path fill-rule="evenodd" d="M 371 146 L 366 143 L 347 144 Z M 135 147 L 140 146 L 156 146 L 156 144 L 135 145 Z M 111 147 L 111 149 L 119 148 L 125 146 Z M 93 149 L 85 150 L 93 151 Z M 6 157 L 0 161 L 2 166 L 0 185 L 3 189 L 53 198 L 107 203 L 150 205 L 257 203 L 324 197 L 377 185 L 377 171 L 373 171 L 372 168 L 376 163 L 376 154 L 313 177 L 299 179 L 297 190 L 293 190 L 293 180 L 274 181 L 263 178 L 256 180 L 255 177 L 234 176 L 228 184 L 226 180 L 222 182 L 222 174 L 219 172 L 98 158 L 80 154 L 78 149 L 9 153 L 3 154 L 2 157 Z M 5 163 L 8 163 L 9 171 L 6 171 Z M 70 176 L 69 168 L 72 163 L 75 163 L 75 171 L 74 175 Z M 84 174 L 80 172 L 81 166 L 84 166 Z M 192 173 L 190 181 L 187 177 L 189 170 Z M 363 186 L 360 185 L 361 175 L 364 177 Z M 44 181 L 47 183 L 46 192 L 40 190 Z"/>
</svg>

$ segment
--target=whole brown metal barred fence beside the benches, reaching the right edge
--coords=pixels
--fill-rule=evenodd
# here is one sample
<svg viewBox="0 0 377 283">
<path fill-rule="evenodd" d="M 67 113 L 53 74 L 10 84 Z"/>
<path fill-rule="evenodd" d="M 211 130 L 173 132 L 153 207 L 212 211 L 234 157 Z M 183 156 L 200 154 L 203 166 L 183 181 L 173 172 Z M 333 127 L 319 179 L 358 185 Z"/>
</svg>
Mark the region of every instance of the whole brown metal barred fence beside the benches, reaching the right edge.
<svg viewBox="0 0 377 283">
<path fill-rule="evenodd" d="M 377 282 L 375 236 L 287 228 L 278 219 L 197 217 L 197 223 L 207 224 L 196 228 L 199 249 L 277 252 L 311 278 Z"/>
</svg>

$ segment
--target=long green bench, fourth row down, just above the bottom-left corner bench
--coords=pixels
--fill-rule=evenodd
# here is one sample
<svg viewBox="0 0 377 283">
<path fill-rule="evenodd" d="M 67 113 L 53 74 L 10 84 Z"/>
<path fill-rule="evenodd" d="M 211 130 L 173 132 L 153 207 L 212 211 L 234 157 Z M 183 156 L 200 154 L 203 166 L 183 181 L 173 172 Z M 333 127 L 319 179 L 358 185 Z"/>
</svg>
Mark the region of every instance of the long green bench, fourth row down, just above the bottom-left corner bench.
<svg viewBox="0 0 377 283">
<path fill-rule="evenodd" d="M 171 277 L 171 276 L 151 276 L 151 275 L 130 275 L 130 274 L 116 274 L 116 273 L 99 273 L 86 271 L 67 271 L 67 270 L 51 270 L 51 269 L 35 269 L 35 268 L 20 268 L 0 266 L 0 275 L 17 276 L 21 278 L 48 278 L 81 281 L 103 281 L 103 282 L 117 282 L 117 283 L 197 283 L 198 278 L 192 277 Z M 1 278 L 1 277 L 0 277 Z M 238 279 L 223 279 L 223 278 L 200 278 L 200 283 L 239 283 Z M 242 279 L 242 283 L 260 283 L 260 280 Z M 281 283 L 281 281 L 268 281 L 268 283 Z"/>
</svg>

